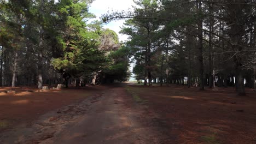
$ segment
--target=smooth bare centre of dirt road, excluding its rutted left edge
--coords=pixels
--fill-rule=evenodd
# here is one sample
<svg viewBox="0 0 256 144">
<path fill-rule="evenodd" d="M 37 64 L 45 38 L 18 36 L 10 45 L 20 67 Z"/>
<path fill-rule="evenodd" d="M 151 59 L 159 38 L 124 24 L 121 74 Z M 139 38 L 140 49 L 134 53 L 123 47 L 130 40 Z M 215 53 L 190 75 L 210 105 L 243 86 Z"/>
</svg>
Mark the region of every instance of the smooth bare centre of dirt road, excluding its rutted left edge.
<svg viewBox="0 0 256 144">
<path fill-rule="evenodd" d="M 161 143 L 161 135 L 138 121 L 142 109 L 132 108 L 124 88 L 104 91 L 75 125 L 53 138 L 54 143 Z M 164 142 L 164 141 L 162 141 Z"/>
</svg>

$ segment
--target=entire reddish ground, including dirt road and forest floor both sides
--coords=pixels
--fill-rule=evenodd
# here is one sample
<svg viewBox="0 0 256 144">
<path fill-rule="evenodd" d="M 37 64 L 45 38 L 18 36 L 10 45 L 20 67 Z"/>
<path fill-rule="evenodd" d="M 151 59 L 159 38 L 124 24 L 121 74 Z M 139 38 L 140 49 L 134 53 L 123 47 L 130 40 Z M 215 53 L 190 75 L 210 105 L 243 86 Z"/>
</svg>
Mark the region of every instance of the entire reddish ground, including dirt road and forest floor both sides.
<svg viewBox="0 0 256 144">
<path fill-rule="evenodd" d="M 0 105 L 0 143 L 256 143 L 251 89 L 4 87 Z"/>
</svg>

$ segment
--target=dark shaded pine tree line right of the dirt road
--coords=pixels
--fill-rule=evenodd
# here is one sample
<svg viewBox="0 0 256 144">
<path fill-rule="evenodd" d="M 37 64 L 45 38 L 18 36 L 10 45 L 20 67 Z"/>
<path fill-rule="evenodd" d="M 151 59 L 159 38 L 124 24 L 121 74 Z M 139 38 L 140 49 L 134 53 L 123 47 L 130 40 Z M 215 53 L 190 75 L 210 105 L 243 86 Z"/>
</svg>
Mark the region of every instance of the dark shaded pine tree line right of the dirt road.
<svg viewBox="0 0 256 144">
<path fill-rule="evenodd" d="M 121 33 L 137 80 L 200 89 L 255 88 L 256 2 L 253 0 L 137 0 L 133 11 L 102 15 L 127 19 Z"/>
</svg>

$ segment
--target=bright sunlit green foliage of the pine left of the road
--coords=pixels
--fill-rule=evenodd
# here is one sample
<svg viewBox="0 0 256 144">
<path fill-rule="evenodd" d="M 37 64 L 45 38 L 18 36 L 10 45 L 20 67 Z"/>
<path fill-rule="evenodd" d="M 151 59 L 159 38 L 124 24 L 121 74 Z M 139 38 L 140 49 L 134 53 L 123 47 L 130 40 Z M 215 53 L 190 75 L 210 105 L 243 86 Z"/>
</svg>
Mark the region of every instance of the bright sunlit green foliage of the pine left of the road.
<svg viewBox="0 0 256 144">
<path fill-rule="evenodd" d="M 99 69 L 104 61 L 103 53 L 97 50 L 97 45 L 100 44 L 101 23 L 85 23 L 85 18 L 94 17 L 88 13 L 88 4 L 85 2 L 66 0 L 57 5 L 62 14 L 61 20 L 65 20 L 61 25 L 65 32 L 56 37 L 63 57 L 53 59 L 51 64 L 56 70 L 65 70 L 72 76 L 90 75 Z"/>
</svg>

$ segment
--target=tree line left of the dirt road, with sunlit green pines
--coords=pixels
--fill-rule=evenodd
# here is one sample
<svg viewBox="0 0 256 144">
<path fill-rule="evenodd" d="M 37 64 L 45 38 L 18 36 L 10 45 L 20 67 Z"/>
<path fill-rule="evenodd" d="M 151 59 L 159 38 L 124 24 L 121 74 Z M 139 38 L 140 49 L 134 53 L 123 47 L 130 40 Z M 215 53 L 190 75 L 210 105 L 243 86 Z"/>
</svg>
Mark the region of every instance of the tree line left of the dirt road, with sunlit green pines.
<svg viewBox="0 0 256 144">
<path fill-rule="evenodd" d="M 92 21 L 92 1 L 1 0 L 0 86 L 125 81 L 126 49 Z"/>
</svg>

